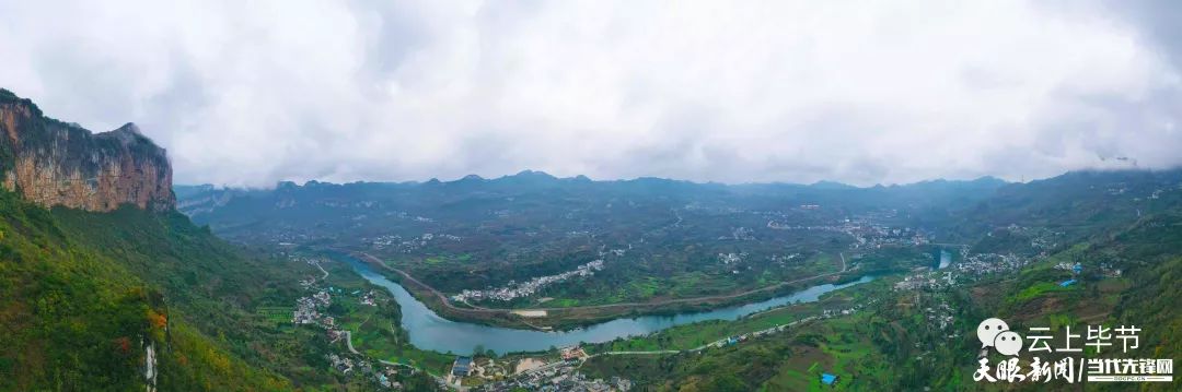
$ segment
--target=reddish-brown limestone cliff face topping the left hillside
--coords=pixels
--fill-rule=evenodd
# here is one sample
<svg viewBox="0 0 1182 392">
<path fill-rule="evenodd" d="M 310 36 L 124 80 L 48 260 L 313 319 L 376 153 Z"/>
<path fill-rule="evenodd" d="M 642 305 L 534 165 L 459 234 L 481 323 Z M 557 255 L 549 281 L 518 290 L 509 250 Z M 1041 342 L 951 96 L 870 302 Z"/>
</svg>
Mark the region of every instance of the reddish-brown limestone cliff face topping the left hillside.
<svg viewBox="0 0 1182 392">
<path fill-rule="evenodd" d="M 130 203 L 162 211 L 176 204 L 164 149 L 135 124 L 95 135 L 2 89 L 0 176 L 5 189 L 46 207 L 110 211 Z"/>
</svg>

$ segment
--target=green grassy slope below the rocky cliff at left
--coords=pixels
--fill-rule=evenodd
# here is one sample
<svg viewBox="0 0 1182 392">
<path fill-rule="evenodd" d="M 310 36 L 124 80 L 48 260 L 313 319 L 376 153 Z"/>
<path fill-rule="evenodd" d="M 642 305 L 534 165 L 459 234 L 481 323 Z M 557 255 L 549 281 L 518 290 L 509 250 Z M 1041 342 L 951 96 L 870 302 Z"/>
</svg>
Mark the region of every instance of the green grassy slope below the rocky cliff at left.
<svg viewBox="0 0 1182 392">
<path fill-rule="evenodd" d="M 142 339 L 161 390 L 292 388 L 260 365 L 265 345 L 242 344 L 269 339 L 246 307 L 288 296 L 273 282 L 287 276 L 251 273 L 261 262 L 178 214 L 48 211 L 0 192 L 0 390 L 142 388 Z"/>
</svg>

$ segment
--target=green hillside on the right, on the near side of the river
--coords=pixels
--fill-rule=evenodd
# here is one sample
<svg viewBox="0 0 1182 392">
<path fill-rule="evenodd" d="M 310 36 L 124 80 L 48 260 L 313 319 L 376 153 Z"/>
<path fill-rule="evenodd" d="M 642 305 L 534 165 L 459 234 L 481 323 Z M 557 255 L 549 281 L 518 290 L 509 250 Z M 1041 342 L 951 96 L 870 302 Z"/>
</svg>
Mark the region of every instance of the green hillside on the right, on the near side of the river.
<svg viewBox="0 0 1182 392">
<path fill-rule="evenodd" d="M 956 214 L 950 221 L 976 235 L 969 253 L 1015 253 L 1030 263 L 959 285 L 918 289 L 892 288 L 898 280 L 877 288 L 863 285 L 832 300 L 846 298 L 856 303 L 857 298 L 873 298 L 865 312 L 726 348 L 668 357 L 599 357 L 583 368 L 590 377 L 628 377 L 656 391 L 829 390 L 819 384 L 820 372 L 842 374 L 837 388 L 846 391 L 1178 391 L 1182 380 L 1176 378 L 1174 383 L 1080 386 L 987 384 L 972 375 L 981 349 L 975 328 L 994 316 L 1019 332 L 1051 327 L 1058 337 L 1053 347 L 1064 346 L 1064 326 L 1076 333 L 1095 325 L 1142 328 L 1138 348 L 1128 353 L 1091 348 L 1082 354 L 1086 358 L 1182 357 L 1177 306 L 1182 300 L 1182 172 L 1072 172 L 1007 185 Z M 1033 247 L 1038 237 L 1031 234 L 1039 231 L 1031 228 L 1059 233 L 1051 236 L 1057 243 Z M 1061 268 L 1076 263 L 1079 273 Z M 913 276 L 937 276 L 934 281 L 943 276 L 940 270 L 926 274 Z M 1060 286 L 1069 279 L 1073 285 Z M 761 319 L 805 311 L 768 312 L 736 321 L 729 331 L 755 331 L 759 327 L 745 325 L 766 325 Z M 948 324 L 937 322 L 936 314 L 948 316 Z M 670 348 L 678 339 L 693 337 L 693 329 L 706 327 L 673 328 L 625 342 Z M 1047 357 L 1043 354 L 1044 360 Z M 1022 366 L 1028 366 L 1030 358 L 1025 359 Z"/>
</svg>

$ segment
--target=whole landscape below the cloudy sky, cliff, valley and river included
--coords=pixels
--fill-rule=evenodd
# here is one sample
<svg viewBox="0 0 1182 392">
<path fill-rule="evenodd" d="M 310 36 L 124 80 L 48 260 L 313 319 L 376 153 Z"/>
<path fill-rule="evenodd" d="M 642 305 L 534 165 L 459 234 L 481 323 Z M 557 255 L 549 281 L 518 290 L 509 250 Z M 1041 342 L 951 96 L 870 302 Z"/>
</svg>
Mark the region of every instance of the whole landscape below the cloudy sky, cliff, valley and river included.
<svg viewBox="0 0 1182 392">
<path fill-rule="evenodd" d="M 991 316 L 1182 353 L 1182 170 L 225 189 L 132 125 L 0 117 L 0 390 L 974 390 Z"/>
</svg>

